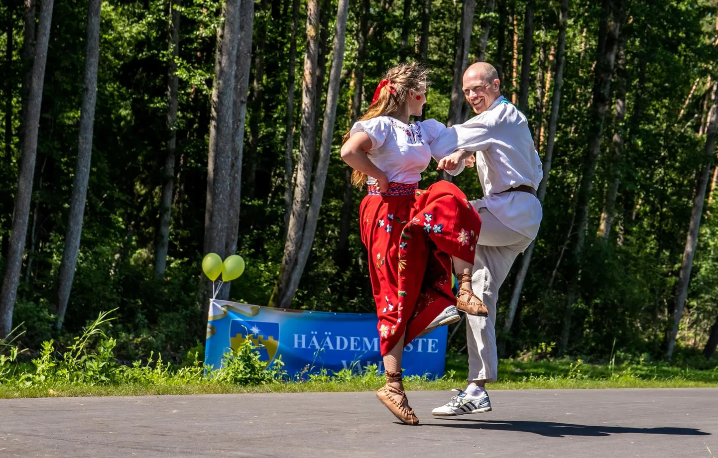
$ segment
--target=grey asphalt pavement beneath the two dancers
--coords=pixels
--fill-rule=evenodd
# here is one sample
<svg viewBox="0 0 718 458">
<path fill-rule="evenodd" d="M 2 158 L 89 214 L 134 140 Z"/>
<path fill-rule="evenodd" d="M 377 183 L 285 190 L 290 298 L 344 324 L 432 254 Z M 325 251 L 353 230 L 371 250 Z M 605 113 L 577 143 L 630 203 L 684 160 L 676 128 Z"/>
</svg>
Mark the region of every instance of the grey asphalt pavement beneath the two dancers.
<svg viewBox="0 0 718 458">
<path fill-rule="evenodd" d="M 718 388 L 489 393 L 410 392 L 419 426 L 370 392 L 0 400 L 0 458 L 718 457 Z"/>
</svg>

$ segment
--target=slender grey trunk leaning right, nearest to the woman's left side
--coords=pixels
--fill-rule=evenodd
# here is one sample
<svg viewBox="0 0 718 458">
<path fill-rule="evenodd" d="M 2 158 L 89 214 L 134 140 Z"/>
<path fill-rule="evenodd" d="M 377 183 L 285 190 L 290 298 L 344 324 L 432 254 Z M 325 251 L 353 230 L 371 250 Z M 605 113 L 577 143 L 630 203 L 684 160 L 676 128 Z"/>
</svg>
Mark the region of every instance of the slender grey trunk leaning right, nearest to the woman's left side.
<svg viewBox="0 0 718 458">
<path fill-rule="evenodd" d="M 317 221 L 319 220 L 320 207 L 322 206 L 322 197 L 324 196 L 324 187 L 327 180 L 327 169 L 329 168 L 329 158 L 332 152 L 332 140 L 334 138 L 334 121 L 337 114 L 337 103 L 339 101 L 342 65 L 344 64 L 348 9 L 349 0 L 339 0 L 334 45 L 332 47 L 332 70 L 329 78 L 329 88 L 327 90 L 327 105 L 322 126 L 322 144 L 320 146 L 319 163 L 317 164 L 317 170 L 314 174 L 312 200 L 309 202 L 309 211 L 307 212 L 307 219 L 304 225 L 297 266 L 292 272 L 289 288 L 288 291 L 286 291 L 286 299 L 282 307 L 289 307 L 292 304 L 292 298 L 297 292 L 297 287 L 299 287 L 299 280 L 302 279 L 304 266 L 307 265 L 309 253 L 312 251 L 314 234 L 317 232 Z"/>
</svg>

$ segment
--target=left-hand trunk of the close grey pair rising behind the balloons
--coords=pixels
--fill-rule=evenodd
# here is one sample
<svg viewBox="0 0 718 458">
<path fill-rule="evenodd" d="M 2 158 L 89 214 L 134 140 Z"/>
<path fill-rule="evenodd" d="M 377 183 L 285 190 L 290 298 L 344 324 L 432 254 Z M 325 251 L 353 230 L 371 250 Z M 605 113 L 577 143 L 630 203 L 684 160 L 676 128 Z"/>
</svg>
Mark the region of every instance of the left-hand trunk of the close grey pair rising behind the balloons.
<svg viewBox="0 0 718 458">
<path fill-rule="evenodd" d="M 240 1 L 225 5 L 224 25 L 217 31 L 215 78 L 212 88 L 210 151 L 207 167 L 205 253 L 225 257 L 233 146 L 233 93 L 239 40 Z"/>
</svg>

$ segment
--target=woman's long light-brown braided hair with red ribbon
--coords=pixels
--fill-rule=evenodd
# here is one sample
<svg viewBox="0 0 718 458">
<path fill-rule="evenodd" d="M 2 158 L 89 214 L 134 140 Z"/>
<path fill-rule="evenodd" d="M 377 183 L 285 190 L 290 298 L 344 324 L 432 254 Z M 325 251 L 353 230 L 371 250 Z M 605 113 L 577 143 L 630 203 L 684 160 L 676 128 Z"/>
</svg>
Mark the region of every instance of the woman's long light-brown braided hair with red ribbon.
<svg viewBox="0 0 718 458">
<path fill-rule="evenodd" d="M 388 84 L 381 88 L 376 101 L 373 101 L 358 121 L 399 114 L 409 98 L 409 90 L 421 92 L 429 86 L 429 69 L 419 62 L 405 62 L 387 70 L 383 79 L 388 80 Z M 342 137 L 342 144 L 349 139 L 349 134 L 347 132 Z M 366 174 L 358 170 L 352 172 L 352 184 L 355 187 L 363 187 L 366 180 Z"/>
</svg>

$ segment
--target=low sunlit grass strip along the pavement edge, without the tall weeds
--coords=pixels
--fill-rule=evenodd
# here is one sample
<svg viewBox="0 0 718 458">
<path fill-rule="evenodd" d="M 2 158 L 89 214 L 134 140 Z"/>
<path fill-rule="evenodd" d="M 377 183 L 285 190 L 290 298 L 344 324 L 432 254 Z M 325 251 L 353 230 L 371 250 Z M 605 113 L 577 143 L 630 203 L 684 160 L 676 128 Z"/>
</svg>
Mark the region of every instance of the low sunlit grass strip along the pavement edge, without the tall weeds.
<svg viewBox="0 0 718 458">
<path fill-rule="evenodd" d="M 447 375 L 440 380 L 411 377 L 405 381 L 410 391 L 449 391 L 462 388 L 466 380 L 466 356 L 449 355 Z M 690 370 L 667 365 L 591 365 L 577 361 L 521 362 L 502 360 L 500 380 L 492 390 L 588 389 L 588 388 L 716 388 L 718 370 Z M 164 376 L 156 381 L 113 385 L 78 383 L 42 383 L 28 387 L 0 385 L 0 398 L 43 398 L 72 396 L 160 396 L 228 393 L 307 393 L 340 391 L 376 391 L 383 385 L 376 371 L 341 377 L 320 375 L 305 382 L 257 384 L 207 383 Z"/>
</svg>

